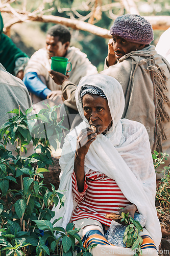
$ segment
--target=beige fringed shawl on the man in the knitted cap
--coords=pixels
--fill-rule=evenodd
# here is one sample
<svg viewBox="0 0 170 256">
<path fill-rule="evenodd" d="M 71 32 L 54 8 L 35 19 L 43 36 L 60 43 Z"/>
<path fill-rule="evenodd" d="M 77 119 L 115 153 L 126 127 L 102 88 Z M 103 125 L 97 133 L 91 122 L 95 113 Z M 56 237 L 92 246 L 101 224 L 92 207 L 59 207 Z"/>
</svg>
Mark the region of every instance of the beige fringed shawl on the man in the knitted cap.
<svg viewBox="0 0 170 256">
<path fill-rule="evenodd" d="M 170 153 L 170 66 L 148 46 L 124 55 L 101 74 L 116 78 L 125 95 L 122 118 L 142 123 L 149 134 L 151 150 Z"/>
</svg>

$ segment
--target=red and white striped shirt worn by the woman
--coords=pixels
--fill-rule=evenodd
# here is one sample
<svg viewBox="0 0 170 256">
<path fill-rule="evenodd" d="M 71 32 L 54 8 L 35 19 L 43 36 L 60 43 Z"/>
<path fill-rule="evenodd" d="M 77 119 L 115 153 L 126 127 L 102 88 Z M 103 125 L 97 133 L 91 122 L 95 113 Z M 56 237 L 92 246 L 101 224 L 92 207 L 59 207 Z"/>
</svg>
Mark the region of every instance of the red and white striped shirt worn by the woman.
<svg viewBox="0 0 170 256">
<path fill-rule="evenodd" d="M 116 212 L 119 207 L 131 204 L 116 184 L 104 174 L 89 170 L 85 175 L 84 190 L 79 193 L 75 172 L 72 173 L 72 193 L 77 207 L 72 212 L 72 221 L 83 218 L 98 220 L 110 226 L 111 220 L 105 219 L 106 214 Z"/>
</svg>

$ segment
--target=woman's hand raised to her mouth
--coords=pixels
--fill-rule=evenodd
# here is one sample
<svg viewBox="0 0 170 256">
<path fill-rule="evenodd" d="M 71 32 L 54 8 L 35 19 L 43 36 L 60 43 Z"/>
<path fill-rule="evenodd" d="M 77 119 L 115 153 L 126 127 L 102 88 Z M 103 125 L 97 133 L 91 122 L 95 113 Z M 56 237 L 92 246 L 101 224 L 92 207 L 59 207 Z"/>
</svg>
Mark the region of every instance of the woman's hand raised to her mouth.
<svg viewBox="0 0 170 256">
<path fill-rule="evenodd" d="M 96 139 L 96 133 L 94 133 L 89 127 L 83 129 L 77 137 L 76 155 L 81 158 L 85 157 L 91 143 Z"/>
</svg>

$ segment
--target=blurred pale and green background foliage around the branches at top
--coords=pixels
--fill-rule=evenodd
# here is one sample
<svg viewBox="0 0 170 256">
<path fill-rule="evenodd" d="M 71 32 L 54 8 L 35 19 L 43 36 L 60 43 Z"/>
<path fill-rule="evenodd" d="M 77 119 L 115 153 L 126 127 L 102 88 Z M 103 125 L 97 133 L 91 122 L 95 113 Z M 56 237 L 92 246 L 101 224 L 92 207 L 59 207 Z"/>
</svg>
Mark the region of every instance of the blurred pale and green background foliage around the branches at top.
<svg viewBox="0 0 170 256">
<path fill-rule="evenodd" d="M 130 1 L 130 0 L 127 0 Z M 125 8 L 122 7 L 121 2 L 111 0 L 98 0 L 98 4 L 109 5 L 114 7 L 112 10 L 106 9 L 101 11 L 100 8 L 95 13 L 92 20 L 92 24 L 110 29 L 113 24 L 112 19 L 114 15 L 126 14 Z M 27 2 L 27 10 L 33 12 L 44 0 L 29 0 Z M 23 4 L 23 1 L 15 1 L 11 4 L 13 8 L 19 9 Z M 91 6 L 90 6 L 91 5 Z M 167 0 L 136 0 L 135 5 L 143 16 L 153 15 L 170 15 L 170 2 Z M 81 0 L 46 0 L 45 9 L 54 8 L 52 12 L 47 12 L 45 15 L 56 15 L 72 19 L 80 19 L 85 22 L 90 22 L 90 12 L 94 7 L 94 1 L 81 1 Z M 90 9 L 91 8 L 91 9 Z M 5 19 L 5 13 L 2 13 Z M 41 47 L 45 46 L 46 31 L 55 24 L 52 23 L 22 23 L 16 24 L 11 27 L 11 38 L 15 44 L 29 57 Z M 98 71 L 103 70 L 104 59 L 107 56 L 107 43 L 109 39 L 105 39 L 85 31 L 72 30 L 71 32 L 71 46 L 78 47 L 82 52 L 86 53 L 89 60 L 94 66 L 98 68 Z M 152 45 L 156 45 L 163 30 L 154 30 L 154 41 Z"/>
</svg>

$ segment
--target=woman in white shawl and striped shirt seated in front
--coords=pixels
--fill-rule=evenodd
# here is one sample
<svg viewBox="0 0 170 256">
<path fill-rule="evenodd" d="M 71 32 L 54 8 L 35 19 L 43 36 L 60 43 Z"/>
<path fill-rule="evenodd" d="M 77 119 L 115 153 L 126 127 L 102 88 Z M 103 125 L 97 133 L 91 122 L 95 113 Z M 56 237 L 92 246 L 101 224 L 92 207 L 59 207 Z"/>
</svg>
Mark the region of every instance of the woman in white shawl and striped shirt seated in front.
<svg viewBox="0 0 170 256">
<path fill-rule="evenodd" d="M 161 229 L 155 209 L 156 177 L 148 133 L 138 122 L 120 120 L 124 111 L 124 93 L 120 83 L 106 75 L 83 77 L 76 90 L 76 102 L 83 122 L 66 137 L 60 165 L 59 189 L 65 189 L 64 207 L 56 210 L 56 223 L 65 227 L 73 222 L 81 228 L 84 246 L 93 255 L 118 248 L 104 237 L 111 220 L 110 212 L 124 207 L 147 218 L 142 250 L 157 255 Z M 155 243 L 155 244 L 154 244 Z M 155 246 L 156 245 L 156 246 Z M 121 248 L 118 254 L 134 253 Z M 121 253 L 120 253 L 121 252 Z M 107 253 L 106 253 L 107 254 Z"/>
</svg>

